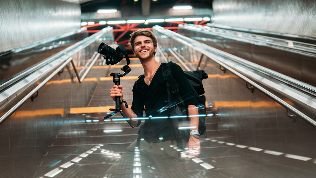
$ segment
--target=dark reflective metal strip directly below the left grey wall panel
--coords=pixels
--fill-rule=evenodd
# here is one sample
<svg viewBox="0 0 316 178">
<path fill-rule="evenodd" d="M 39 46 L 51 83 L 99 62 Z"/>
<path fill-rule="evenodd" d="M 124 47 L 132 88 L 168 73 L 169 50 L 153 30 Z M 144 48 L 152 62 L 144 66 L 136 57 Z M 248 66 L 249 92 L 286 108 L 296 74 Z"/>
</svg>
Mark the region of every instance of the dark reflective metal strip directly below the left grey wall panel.
<svg viewBox="0 0 316 178">
<path fill-rule="evenodd" d="M 57 38 L 0 53 L 0 85 L 86 37 L 88 37 L 88 32 L 79 29 Z"/>
</svg>

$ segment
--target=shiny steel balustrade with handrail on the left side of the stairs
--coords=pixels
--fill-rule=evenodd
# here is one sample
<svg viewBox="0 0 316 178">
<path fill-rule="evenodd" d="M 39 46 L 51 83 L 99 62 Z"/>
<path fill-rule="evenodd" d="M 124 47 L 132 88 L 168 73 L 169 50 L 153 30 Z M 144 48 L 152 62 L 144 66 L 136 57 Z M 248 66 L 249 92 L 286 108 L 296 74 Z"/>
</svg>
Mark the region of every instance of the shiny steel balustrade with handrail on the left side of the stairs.
<svg viewBox="0 0 316 178">
<path fill-rule="evenodd" d="M 1 85 L 1 87 L 5 90 L 1 91 L 0 93 L 0 106 L 8 104 L 10 101 L 12 102 L 12 98 L 16 97 L 16 95 L 21 93 L 21 90 L 26 88 L 30 83 L 34 83 L 38 80 L 40 76 L 45 76 L 47 74 L 50 74 L 49 77 L 47 77 L 44 81 L 42 81 L 37 87 L 32 89 L 31 92 L 26 94 L 22 100 L 18 101 L 14 107 L 9 109 L 9 111 L 5 111 L 5 114 L 3 114 L 0 117 L 0 124 L 10 116 L 18 107 L 20 107 L 30 96 L 32 96 L 36 91 L 38 91 L 45 83 L 47 83 L 54 75 L 56 75 L 60 70 L 63 69 L 64 66 L 66 66 L 69 62 L 72 61 L 71 56 L 75 54 L 76 52 L 79 52 L 80 50 L 84 49 L 88 45 L 92 44 L 102 36 L 104 36 L 106 33 L 108 33 L 110 30 L 112 30 L 112 27 L 107 27 L 100 32 L 95 33 L 91 35 L 90 37 L 85 38 L 84 40 L 77 42 L 76 44 L 64 49 L 61 52 L 56 53 L 55 55 L 51 56 L 50 58 L 47 58 L 46 60 L 40 62 L 39 64 L 31 67 L 27 71 L 21 73 L 19 76 L 12 79 L 13 81 L 8 81 Z M 91 66 L 94 64 L 95 59 L 99 55 L 96 55 L 92 63 L 90 64 L 89 68 L 83 76 L 80 78 L 77 74 L 77 77 L 79 81 L 82 81 L 85 77 L 88 70 L 91 68 Z M 73 64 L 74 65 L 74 64 Z M 75 68 L 75 66 L 73 66 Z M 0 110 L 0 112 L 3 112 Z"/>
</svg>

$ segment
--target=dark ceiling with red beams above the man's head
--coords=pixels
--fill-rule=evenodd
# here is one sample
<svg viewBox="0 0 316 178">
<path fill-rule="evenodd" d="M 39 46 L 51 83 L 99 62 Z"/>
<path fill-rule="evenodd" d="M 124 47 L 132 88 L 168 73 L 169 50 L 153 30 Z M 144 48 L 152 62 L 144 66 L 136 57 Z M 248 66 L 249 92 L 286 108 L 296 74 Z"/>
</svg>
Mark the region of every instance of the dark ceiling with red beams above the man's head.
<svg viewBox="0 0 316 178">
<path fill-rule="evenodd" d="M 64 0 L 72 3 L 79 3 L 81 6 L 81 20 L 94 21 L 94 25 L 85 26 L 90 34 L 105 28 L 99 21 L 111 20 L 135 20 L 135 19 L 166 19 L 185 17 L 211 17 L 212 0 Z M 191 5 L 192 10 L 173 10 L 173 5 Z M 118 9 L 117 13 L 97 14 L 98 9 Z M 164 28 L 176 31 L 179 23 L 195 23 L 205 25 L 209 21 L 188 21 L 188 22 L 161 22 L 161 23 L 138 23 L 138 24 L 117 24 L 110 25 L 114 29 L 114 40 L 120 44 L 126 44 L 131 31 L 138 28 L 151 28 L 160 25 Z"/>
</svg>

